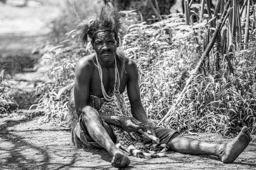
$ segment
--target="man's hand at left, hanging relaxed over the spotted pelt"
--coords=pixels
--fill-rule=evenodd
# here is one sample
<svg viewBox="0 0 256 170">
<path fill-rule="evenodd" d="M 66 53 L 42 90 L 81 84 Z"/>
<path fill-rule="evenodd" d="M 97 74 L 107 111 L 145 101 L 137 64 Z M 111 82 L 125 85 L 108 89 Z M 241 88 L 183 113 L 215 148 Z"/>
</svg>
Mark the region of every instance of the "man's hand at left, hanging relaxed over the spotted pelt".
<svg viewBox="0 0 256 170">
<path fill-rule="evenodd" d="M 126 132 L 137 132 L 143 128 L 143 126 L 140 126 L 142 122 L 136 120 L 134 117 L 119 117 L 117 121 Z"/>
</svg>

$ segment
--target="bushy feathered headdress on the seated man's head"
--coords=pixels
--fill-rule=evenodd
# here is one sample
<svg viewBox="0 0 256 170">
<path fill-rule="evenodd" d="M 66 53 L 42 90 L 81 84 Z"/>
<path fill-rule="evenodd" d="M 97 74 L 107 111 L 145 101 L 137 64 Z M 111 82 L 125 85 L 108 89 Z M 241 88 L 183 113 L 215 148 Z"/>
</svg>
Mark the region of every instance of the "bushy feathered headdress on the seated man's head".
<svg viewBox="0 0 256 170">
<path fill-rule="evenodd" d="M 122 17 L 119 7 L 105 5 L 95 9 L 93 15 L 77 24 L 76 36 L 83 43 L 87 43 L 88 36 L 93 39 L 97 32 L 111 31 L 117 37 L 119 32 L 123 33 L 126 29 L 126 21 Z"/>
</svg>

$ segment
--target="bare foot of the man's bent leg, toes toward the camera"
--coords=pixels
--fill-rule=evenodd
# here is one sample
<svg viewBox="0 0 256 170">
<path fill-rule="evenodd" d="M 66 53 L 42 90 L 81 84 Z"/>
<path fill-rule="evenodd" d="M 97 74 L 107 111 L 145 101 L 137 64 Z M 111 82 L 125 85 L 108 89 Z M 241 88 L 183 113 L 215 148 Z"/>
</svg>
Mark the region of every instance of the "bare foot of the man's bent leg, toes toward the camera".
<svg viewBox="0 0 256 170">
<path fill-rule="evenodd" d="M 117 150 L 114 153 L 111 163 L 112 166 L 116 168 L 124 168 L 130 164 L 130 159 L 126 154 L 124 154 L 124 152 L 122 152 L 121 150 Z"/>
</svg>

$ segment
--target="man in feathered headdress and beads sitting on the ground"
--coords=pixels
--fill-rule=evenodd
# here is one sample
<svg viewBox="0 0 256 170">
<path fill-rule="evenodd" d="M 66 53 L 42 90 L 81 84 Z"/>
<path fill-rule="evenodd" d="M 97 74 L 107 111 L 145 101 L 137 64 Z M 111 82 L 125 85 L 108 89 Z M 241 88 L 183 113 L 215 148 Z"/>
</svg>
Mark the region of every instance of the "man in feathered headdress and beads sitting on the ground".
<svg viewBox="0 0 256 170">
<path fill-rule="evenodd" d="M 232 163 L 252 140 L 246 126 L 235 139 L 218 145 L 187 138 L 172 129 L 148 123 L 140 98 L 137 65 L 122 52 L 117 52 L 118 32 L 125 29 L 120 11 L 109 6 L 96 10 L 90 19 L 77 25 L 77 35 L 84 43 L 89 36 L 95 53 L 83 57 L 76 65 L 74 93 L 71 95 L 68 115 L 68 122 L 72 126 L 72 141 L 78 147 L 104 148 L 113 156 L 111 163 L 114 167 L 128 166 L 128 156 L 114 144 L 116 136 L 110 125 L 116 125 L 127 132 L 142 129 L 160 138 L 160 143 L 166 144 L 172 151 L 214 155 L 221 158 L 223 163 Z M 104 104 L 116 100 L 125 88 L 133 117 L 111 116 L 99 111 Z M 145 142 L 151 140 L 145 135 L 141 137 Z"/>
</svg>

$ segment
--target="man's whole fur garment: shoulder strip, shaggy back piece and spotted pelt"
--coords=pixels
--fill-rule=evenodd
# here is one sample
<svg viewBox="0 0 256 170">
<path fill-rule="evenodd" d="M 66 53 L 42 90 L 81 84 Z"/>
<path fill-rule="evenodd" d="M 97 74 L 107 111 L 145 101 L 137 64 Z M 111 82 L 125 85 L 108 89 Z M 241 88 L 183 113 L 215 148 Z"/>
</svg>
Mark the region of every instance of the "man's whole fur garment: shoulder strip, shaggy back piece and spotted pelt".
<svg viewBox="0 0 256 170">
<path fill-rule="evenodd" d="M 125 57 L 122 51 L 117 52 L 117 67 L 120 78 L 120 86 L 125 82 L 127 76 L 126 63 L 128 58 Z M 106 101 L 104 98 L 99 98 L 95 94 L 90 94 L 88 100 L 88 105 L 95 108 L 102 113 L 120 116 L 120 117 L 132 117 L 131 111 L 126 105 L 122 94 L 119 91 L 114 90 L 112 95 L 115 95 L 114 99 L 110 102 Z M 111 96 L 112 96 L 111 95 Z M 85 148 L 86 146 L 80 141 L 75 133 L 75 128 L 78 123 L 78 116 L 75 109 L 74 93 L 71 93 L 70 101 L 68 104 L 69 113 L 67 115 L 67 122 L 71 127 L 72 132 L 72 142 L 78 148 Z M 139 158 L 154 158 L 154 157 L 163 157 L 165 156 L 165 151 L 169 147 L 165 144 L 144 144 L 143 140 L 138 132 L 126 132 L 121 127 L 110 125 L 113 129 L 114 135 L 116 136 L 116 146 L 122 149 L 126 154 L 136 156 Z M 154 148 L 160 148 L 155 150 Z M 152 151 L 153 150 L 153 151 Z"/>
</svg>

